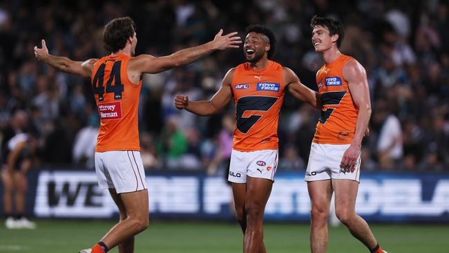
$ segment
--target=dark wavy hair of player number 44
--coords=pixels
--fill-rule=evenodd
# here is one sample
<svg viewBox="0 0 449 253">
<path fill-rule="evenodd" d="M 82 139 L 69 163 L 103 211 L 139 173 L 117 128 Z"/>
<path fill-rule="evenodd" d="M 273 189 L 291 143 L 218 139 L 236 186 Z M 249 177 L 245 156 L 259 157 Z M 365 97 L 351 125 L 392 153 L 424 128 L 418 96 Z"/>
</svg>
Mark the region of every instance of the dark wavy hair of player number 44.
<svg viewBox="0 0 449 253">
<path fill-rule="evenodd" d="M 126 40 L 133 37 L 135 23 L 131 17 L 118 17 L 111 20 L 103 30 L 104 49 L 117 52 L 126 46 Z"/>
</svg>

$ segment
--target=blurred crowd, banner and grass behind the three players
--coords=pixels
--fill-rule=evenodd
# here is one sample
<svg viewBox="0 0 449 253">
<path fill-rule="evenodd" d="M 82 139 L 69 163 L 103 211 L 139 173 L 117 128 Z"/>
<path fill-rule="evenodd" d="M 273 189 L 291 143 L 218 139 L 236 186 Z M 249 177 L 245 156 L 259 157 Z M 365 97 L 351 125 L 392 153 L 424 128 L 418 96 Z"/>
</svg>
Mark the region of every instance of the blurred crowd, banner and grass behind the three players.
<svg viewBox="0 0 449 253">
<path fill-rule="evenodd" d="M 93 171 L 99 119 L 90 85 L 44 66 L 32 48 L 46 39 L 55 55 L 102 57 L 102 27 L 126 15 L 137 24 L 136 53 L 155 56 L 209 41 L 220 28 L 244 36 L 247 25 L 264 24 L 279 41 L 274 60 L 315 90 L 323 62 L 309 21 L 343 21 L 341 51 L 365 66 L 373 107 L 357 210 L 389 252 L 449 252 L 448 12 L 443 0 L 0 1 L 0 131 L 24 110 L 27 131 L 38 140 L 26 205 L 37 230 L 1 225 L 0 252 L 76 252 L 117 218 Z M 233 106 L 200 118 L 177 111 L 173 97 L 209 99 L 243 61 L 242 50 L 226 50 L 144 77 L 141 153 L 153 225 L 137 236 L 138 252 L 241 251 L 225 182 Z M 287 94 L 280 167 L 265 214 L 270 252 L 308 252 L 303 176 L 317 119 L 317 111 Z M 365 252 L 344 227 L 332 228 L 329 238 L 329 252 Z"/>
</svg>

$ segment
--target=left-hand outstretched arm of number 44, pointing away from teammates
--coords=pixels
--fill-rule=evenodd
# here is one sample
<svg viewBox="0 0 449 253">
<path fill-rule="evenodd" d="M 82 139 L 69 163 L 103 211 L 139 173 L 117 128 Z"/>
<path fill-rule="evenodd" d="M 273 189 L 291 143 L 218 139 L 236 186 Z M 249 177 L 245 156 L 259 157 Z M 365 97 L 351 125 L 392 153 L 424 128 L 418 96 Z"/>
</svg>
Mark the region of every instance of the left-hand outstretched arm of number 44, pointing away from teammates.
<svg viewBox="0 0 449 253">
<path fill-rule="evenodd" d="M 86 62 L 74 62 L 67 57 L 50 55 L 44 39 L 42 39 L 42 48 L 37 48 L 37 46 L 35 46 L 35 56 L 37 59 L 59 71 L 80 75 L 85 78 L 90 78 L 93 66 L 95 62 L 97 62 L 97 59 L 88 59 Z"/>
</svg>

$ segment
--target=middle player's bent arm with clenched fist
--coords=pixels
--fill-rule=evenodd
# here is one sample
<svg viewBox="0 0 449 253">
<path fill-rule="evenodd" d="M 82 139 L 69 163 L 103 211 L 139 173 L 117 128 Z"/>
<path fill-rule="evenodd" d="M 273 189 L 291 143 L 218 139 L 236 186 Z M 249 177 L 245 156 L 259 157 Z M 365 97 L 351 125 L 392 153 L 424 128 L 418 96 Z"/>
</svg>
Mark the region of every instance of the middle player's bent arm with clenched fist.
<svg viewBox="0 0 449 253">
<path fill-rule="evenodd" d="M 191 113 L 202 116 L 209 116 L 221 111 L 231 100 L 232 90 L 231 83 L 234 75 L 234 68 L 231 68 L 223 79 L 220 90 L 213 95 L 210 100 L 203 100 L 198 102 L 189 101 L 187 95 L 177 95 L 175 97 L 176 108 L 182 110 L 186 109 Z"/>
</svg>

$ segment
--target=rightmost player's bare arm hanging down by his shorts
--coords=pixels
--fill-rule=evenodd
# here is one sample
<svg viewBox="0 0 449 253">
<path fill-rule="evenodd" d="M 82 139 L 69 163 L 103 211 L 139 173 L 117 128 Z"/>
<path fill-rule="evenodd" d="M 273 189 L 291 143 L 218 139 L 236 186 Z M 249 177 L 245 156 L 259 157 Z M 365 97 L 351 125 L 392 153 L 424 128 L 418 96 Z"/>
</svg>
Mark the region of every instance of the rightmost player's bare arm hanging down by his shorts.
<svg viewBox="0 0 449 253">
<path fill-rule="evenodd" d="M 365 68 L 359 62 L 352 60 L 343 66 L 343 78 L 347 81 L 352 95 L 352 100 L 359 109 L 357 115 L 356 131 L 350 147 L 343 154 L 340 167 L 350 169 L 356 164 L 360 156 L 363 135 L 367 133 L 368 123 L 371 118 L 370 89 L 366 77 Z"/>
</svg>

